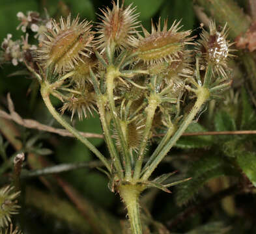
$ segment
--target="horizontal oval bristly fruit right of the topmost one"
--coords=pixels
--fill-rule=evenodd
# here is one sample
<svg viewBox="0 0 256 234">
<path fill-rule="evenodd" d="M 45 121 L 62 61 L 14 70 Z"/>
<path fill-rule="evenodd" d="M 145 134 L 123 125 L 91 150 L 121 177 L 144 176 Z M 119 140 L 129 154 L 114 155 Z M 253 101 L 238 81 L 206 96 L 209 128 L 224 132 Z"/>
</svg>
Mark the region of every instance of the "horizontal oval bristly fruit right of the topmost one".
<svg viewBox="0 0 256 234">
<path fill-rule="evenodd" d="M 180 22 L 176 21 L 167 29 L 167 20 L 164 21 L 164 27 L 161 30 L 160 19 L 155 26 L 152 23 L 151 34 L 144 28 L 144 36 L 137 33 L 139 39 L 134 40 L 137 49 L 137 59 L 147 64 L 159 62 L 169 62 L 176 60 L 179 53 L 184 51 L 185 45 L 190 44 L 189 38 L 191 31 L 178 32 Z"/>
</svg>

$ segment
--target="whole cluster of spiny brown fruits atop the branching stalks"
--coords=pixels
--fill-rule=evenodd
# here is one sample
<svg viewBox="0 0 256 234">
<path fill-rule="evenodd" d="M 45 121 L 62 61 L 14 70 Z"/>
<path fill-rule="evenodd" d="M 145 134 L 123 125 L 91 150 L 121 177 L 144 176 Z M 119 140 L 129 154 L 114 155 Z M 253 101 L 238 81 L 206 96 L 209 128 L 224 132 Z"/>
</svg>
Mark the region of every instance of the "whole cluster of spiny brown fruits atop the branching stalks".
<svg viewBox="0 0 256 234">
<path fill-rule="evenodd" d="M 137 151 L 152 94 L 157 94 L 157 104 L 150 131 L 157 133 L 179 122 L 190 109 L 195 95 L 188 83 L 197 86 L 201 82 L 196 78 L 196 58 L 201 75 L 210 64 L 214 73 L 212 82 L 219 78 L 223 82 L 229 79 L 227 60 L 233 56 L 226 25 L 218 30 L 214 21 L 210 21 L 210 32 L 203 29 L 201 38 L 194 42 L 192 31 L 182 31 L 180 21 L 168 27 L 167 20 L 162 24 L 159 19 L 158 23 L 152 23 L 150 32 L 143 26 L 140 32 L 138 16 L 134 6 L 125 6 L 119 1 L 113 1 L 112 8 L 102 10 L 96 27 L 86 19 L 80 21 L 79 17 L 61 17 L 55 21 L 49 17 L 42 20 L 33 12 L 28 16 L 20 13 L 18 18 L 23 23 L 19 27 L 23 31 L 26 27 L 40 31 L 38 49 L 32 53 L 27 42 L 28 60 L 25 53 L 20 53 L 20 44 L 13 42 L 10 35 L 2 48 L 14 65 L 25 60 L 44 77 L 51 74 L 51 79 L 46 79 L 55 82 L 53 95 L 63 101 L 62 113 L 72 112 L 71 118 L 77 113 L 82 120 L 83 116 L 98 111 L 97 87 L 105 100 L 106 121 L 117 146 L 121 143 L 113 127 L 113 115 L 122 123 L 127 147 Z M 119 71 L 111 85 L 114 103 L 106 100 L 109 67 Z M 113 105 L 115 112 L 111 114 Z"/>
</svg>

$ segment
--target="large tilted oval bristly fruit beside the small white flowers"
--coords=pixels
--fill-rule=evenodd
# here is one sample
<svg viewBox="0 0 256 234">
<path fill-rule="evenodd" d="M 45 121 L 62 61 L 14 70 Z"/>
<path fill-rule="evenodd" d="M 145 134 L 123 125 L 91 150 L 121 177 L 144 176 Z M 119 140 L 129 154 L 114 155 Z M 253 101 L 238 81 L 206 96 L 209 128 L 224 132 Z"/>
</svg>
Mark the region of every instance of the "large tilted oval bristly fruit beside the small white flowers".
<svg viewBox="0 0 256 234">
<path fill-rule="evenodd" d="M 53 28 L 45 33 L 46 38 L 40 42 L 37 51 L 42 66 L 52 67 L 57 73 L 71 70 L 79 60 L 83 62 L 83 57 L 89 57 L 91 53 L 92 25 L 86 20 L 79 23 L 78 17 L 71 22 L 70 18 L 68 16 L 65 21 L 61 17 L 60 25 L 53 20 Z"/>
</svg>

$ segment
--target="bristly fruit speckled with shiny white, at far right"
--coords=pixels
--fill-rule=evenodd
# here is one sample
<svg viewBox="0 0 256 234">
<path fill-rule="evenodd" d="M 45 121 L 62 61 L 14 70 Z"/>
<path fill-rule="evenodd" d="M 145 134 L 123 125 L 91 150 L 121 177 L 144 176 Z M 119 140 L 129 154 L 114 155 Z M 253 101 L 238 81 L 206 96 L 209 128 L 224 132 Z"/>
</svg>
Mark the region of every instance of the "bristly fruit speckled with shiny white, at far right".
<svg viewBox="0 0 256 234">
<path fill-rule="evenodd" d="M 229 57 L 234 57 L 230 53 L 235 51 L 230 49 L 234 43 L 230 43 L 227 40 L 227 23 L 221 31 L 218 31 L 215 22 L 211 20 L 209 28 L 210 33 L 203 29 L 201 39 L 196 43 L 197 47 L 195 49 L 202 54 L 201 65 L 206 66 L 208 63 L 211 63 L 214 74 L 222 75 L 226 78 L 228 76 L 227 72 L 229 72 L 227 61 Z"/>
</svg>

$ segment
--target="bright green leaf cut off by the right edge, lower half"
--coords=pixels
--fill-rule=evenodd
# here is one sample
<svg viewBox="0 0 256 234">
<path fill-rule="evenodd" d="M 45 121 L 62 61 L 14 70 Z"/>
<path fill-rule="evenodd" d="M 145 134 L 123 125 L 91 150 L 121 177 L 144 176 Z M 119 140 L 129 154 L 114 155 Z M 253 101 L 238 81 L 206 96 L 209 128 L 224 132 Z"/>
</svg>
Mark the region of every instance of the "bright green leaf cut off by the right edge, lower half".
<svg viewBox="0 0 256 234">
<path fill-rule="evenodd" d="M 251 183 L 256 187 L 256 154 L 253 152 L 244 152 L 236 157 L 236 161 L 244 174 L 246 174 Z"/>
</svg>

